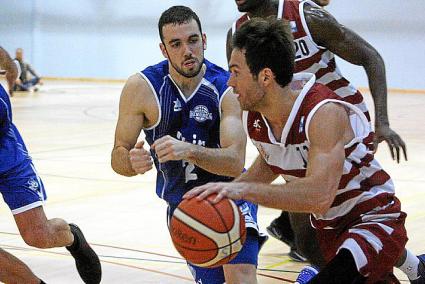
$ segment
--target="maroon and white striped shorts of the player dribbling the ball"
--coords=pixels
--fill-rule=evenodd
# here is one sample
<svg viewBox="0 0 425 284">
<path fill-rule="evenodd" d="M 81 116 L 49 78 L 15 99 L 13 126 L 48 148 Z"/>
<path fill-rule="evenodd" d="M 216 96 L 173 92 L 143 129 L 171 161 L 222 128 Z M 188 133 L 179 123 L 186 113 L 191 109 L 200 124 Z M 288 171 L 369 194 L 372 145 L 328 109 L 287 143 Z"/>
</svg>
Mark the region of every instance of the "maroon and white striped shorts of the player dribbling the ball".
<svg viewBox="0 0 425 284">
<path fill-rule="evenodd" d="M 367 283 L 387 279 L 407 242 L 406 213 L 400 211 L 400 207 L 400 201 L 394 197 L 387 206 L 363 214 L 359 222 L 342 232 L 319 230 L 318 238 L 325 260 L 330 261 L 340 249 L 345 248 L 353 255 L 360 274 L 368 278 Z"/>
</svg>

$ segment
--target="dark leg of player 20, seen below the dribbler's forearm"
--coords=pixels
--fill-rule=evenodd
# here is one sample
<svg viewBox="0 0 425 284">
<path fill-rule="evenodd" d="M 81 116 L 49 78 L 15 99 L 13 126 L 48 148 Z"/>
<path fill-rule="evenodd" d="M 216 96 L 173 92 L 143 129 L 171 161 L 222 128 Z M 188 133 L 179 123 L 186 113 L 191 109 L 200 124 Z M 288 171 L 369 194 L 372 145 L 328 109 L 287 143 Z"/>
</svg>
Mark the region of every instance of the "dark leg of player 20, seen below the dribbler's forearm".
<svg viewBox="0 0 425 284">
<path fill-rule="evenodd" d="M 310 214 L 289 213 L 291 227 L 294 232 L 294 246 L 308 261 L 317 266 L 324 267 L 325 260 L 322 256 L 316 230 L 311 226 Z"/>
</svg>

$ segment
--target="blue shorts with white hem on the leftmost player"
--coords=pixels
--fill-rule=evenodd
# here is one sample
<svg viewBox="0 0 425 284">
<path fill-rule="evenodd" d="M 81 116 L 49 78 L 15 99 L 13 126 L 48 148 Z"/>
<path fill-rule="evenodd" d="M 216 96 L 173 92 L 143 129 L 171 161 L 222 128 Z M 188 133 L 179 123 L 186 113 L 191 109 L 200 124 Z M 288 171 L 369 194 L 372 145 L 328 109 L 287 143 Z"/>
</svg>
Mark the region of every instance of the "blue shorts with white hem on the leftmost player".
<svg viewBox="0 0 425 284">
<path fill-rule="evenodd" d="M 1 174 L 0 192 L 14 215 L 42 206 L 47 198 L 32 162 L 22 163 Z"/>
</svg>

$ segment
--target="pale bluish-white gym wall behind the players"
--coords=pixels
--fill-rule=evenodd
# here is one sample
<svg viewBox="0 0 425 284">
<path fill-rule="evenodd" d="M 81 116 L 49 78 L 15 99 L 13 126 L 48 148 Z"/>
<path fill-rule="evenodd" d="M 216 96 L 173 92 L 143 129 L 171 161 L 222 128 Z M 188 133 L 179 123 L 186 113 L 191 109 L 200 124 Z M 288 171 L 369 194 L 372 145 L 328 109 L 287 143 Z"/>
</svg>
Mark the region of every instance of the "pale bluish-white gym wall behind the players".
<svg viewBox="0 0 425 284">
<path fill-rule="evenodd" d="M 206 57 L 225 66 L 225 34 L 238 16 L 233 0 L 0 0 L 0 45 L 12 54 L 24 48 L 45 76 L 126 78 L 162 60 L 157 20 L 176 4 L 199 14 Z M 328 10 L 380 51 L 389 87 L 425 89 L 424 0 L 333 0 Z M 338 63 L 367 86 L 362 68 Z"/>
</svg>

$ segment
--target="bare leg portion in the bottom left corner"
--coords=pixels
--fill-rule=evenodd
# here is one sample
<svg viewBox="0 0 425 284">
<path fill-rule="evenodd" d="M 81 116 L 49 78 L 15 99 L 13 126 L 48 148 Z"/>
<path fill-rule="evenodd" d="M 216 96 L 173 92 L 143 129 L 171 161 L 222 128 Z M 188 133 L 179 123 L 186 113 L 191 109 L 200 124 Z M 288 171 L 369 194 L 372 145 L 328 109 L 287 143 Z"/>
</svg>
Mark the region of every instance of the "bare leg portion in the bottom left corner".
<svg viewBox="0 0 425 284">
<path fill-rule="evenodd" d="M 0 281 L 4 283 L 40 284 L 42 282 L 21 260 L 0 249 Z"/>
</svg>

